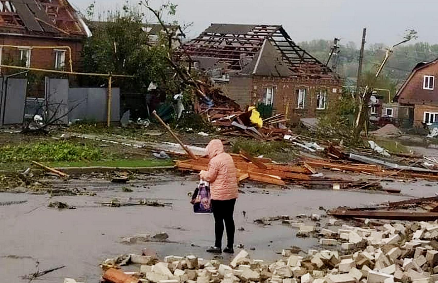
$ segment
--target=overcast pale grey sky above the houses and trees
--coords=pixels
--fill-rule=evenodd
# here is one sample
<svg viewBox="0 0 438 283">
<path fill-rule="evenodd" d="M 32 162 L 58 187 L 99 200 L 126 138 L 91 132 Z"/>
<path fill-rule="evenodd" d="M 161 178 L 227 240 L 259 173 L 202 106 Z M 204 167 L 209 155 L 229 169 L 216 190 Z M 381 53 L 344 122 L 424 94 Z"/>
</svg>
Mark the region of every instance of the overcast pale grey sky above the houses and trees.
<svg viewBox="0 0 438 283">
<path fill-rule="evenodd" d="M 154 6 L 164 1 L 149 0 Z M 93 0 L 70 0 L 85 10 Z M 96 11 L 122 7 L 125 0 L 95 0 Z M 138 1 L 130 1 L 138 3 Z M 361 40 L 392 45 L 406 28 L 418 31 L 417 41 L 438 43 L 438 0 L 172 0 L 176 20 L 193 22 L 188 35 L 195 37 L 210 23 L 282 24 L 294 41 L 341 38 L 341 43 Z"/>
</svg>

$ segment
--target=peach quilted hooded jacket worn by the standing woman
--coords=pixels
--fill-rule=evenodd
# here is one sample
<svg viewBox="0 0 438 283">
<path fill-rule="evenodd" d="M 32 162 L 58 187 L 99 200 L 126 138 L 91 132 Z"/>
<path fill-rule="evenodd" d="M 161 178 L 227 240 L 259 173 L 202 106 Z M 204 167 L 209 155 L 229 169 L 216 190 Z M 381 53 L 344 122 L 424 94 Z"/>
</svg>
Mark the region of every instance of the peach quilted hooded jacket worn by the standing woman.
<svg viewBox="0 0 438 283">
<path fill-rule="evenodd" d="M 220 140 L 214 139 L 207 145 L 210 158 L 208 171 L 202 170 L 201 179 L 210 182 L 212 200 L 237 198 L 237 169 L 231 155 L 223 149 Z"/>
</svg>

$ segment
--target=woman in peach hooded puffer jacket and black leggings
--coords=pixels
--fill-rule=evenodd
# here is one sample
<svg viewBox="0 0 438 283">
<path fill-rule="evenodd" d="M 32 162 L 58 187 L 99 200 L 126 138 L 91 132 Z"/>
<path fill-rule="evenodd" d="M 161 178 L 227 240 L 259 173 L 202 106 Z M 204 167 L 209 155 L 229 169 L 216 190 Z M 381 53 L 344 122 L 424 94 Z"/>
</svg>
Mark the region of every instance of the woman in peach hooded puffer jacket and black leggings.
<svg viewBox="0 0 438 283">
<path fill-rule="evenodd" d="M 234 205 L 237 199 L 237 169 L 231 155 L 223 149 L 220 140 L 215 139 L 208 143 L 207 153 L 210 158 L 208 171 L 202 170 L 199 174 L 202 180 L 210 183 L 213 216 L 215 218 L 215 245 L 207 252 L 222 252 L 222 235 L 224 222 L 226 228 L 227 245 L 224 252 L 234 253 Z"/>
</svg>

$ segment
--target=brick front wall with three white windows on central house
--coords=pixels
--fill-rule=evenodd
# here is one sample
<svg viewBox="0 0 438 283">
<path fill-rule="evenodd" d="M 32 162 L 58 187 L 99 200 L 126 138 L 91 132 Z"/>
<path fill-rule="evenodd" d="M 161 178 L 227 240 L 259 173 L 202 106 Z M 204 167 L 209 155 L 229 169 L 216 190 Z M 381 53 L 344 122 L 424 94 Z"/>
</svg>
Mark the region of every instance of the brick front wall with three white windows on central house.
<svg viewBox="0 0 438 283">
<path fill-rule="evenodd" d="M 276 86 L 273 98 L 275 113 L 286 113 L 290 117 L 290 123 L 296 124 L 300 118 L 318 117 L 319 114 L 330 109 L 330 104 L 338 99 L 341 94 L 341 85 L 336 79 L 303 79 L 303 78 L 280 78 L 280 77 L 254 77 L 252 101 L 253 105 L 263 102 L 266 88 Z M 297 90 L 305 89 L 306 95 L 304 108 L 297 109 Z M 317 91 L 326 90 L 325 110 L 317 109 Z"/>
</svg>

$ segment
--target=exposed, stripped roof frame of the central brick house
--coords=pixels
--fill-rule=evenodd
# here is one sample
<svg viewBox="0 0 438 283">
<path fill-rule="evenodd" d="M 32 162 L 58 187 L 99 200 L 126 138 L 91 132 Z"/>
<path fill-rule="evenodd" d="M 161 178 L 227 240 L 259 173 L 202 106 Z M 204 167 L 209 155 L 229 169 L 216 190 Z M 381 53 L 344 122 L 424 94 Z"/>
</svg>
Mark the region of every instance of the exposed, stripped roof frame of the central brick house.
<svg viewBox="0 0 438 283">
<path fill-rule="evenodd" d="M 201 69 L 222 63 L 240 72 L 260 58 L 258 55 L 269 48 L 267 45 L 281 55 L 292 75 L 333 76 L 329 67 L 300 48 L 281 25 L 211 24 L 183 48 L 193 61 L 200 62 Z"/>
</svg>

